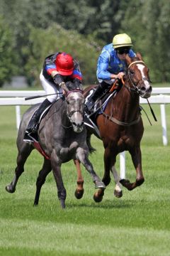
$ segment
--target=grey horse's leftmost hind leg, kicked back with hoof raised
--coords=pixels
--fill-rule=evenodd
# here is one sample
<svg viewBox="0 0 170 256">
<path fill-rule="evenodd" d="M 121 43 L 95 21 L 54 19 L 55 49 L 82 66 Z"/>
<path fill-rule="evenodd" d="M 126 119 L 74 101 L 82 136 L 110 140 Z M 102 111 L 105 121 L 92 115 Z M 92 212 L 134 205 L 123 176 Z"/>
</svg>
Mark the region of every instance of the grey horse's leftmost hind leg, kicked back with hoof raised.
<svg viewBox="0 0 170 256">
<path fill-rule="evenodd" d="M 16 191 L 16 183 L 18 182 L 18 178 L 21 176 L 21 174 L 24 171 L 24 164 L 26 163 L 26 159 L 28 159 L 28 156 L 30 155 L 30 152 L 33 150 L 33 146 L 31 146 L 28 143 L 23 142 L 23 146 L 21 150 L 18 150 L 18 156 L 17 156 L 17 166 L 15 169 L 15 175 L 13 177 L 13 181 L 11 181 L 10 184 L 6 186 L 6 191 L 9 193 L 14 193 Z"/>
</svg>

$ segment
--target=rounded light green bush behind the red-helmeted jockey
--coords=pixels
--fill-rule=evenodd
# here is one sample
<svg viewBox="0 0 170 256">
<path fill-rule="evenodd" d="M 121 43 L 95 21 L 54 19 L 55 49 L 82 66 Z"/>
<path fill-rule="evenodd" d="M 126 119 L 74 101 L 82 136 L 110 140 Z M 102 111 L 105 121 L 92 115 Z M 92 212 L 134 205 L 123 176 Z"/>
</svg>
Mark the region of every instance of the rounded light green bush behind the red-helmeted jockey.
<svg viewBox="0 0 170 256">
<path fill-rule="evenodd" d="M 45 57 L 57 51 L 65 51 L 79 61 L 84 84 L 96 82 L 96 64 L 101 48 L 89 43 L 77 31 L 67 31 L 57 23 L 46 29 L 32 27 L 28 45 L 25 48 L 25 70 L 29 80 L 35 80 L 36 85 L 40 84 L 39 75 Z"/>
</svg>

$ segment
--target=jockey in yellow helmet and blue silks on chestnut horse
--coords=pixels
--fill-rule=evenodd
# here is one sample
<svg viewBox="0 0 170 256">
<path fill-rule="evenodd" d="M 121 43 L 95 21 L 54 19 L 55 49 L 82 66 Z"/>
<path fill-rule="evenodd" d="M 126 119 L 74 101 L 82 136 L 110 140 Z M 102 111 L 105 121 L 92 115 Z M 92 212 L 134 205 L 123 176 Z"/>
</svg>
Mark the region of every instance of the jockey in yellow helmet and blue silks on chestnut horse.
<svg viewBox="0 0 170 256">
<path fill-rule="evenodd" d="M 135 57 L 132 48 L 132 40 L 126 33 L 121 33 L 113 37 L 113 43 L 103 47 L 98 58 L 97 78 L 99 85 L 95 92 L 86 102 L 89 112 L 92 112 L 94 102 L 103 95 L 103 92 L 113 85 L 115 79 L 121 79 L 125 75 L 125 58 L 128 54 L 130 58 Z"/>
</svg>

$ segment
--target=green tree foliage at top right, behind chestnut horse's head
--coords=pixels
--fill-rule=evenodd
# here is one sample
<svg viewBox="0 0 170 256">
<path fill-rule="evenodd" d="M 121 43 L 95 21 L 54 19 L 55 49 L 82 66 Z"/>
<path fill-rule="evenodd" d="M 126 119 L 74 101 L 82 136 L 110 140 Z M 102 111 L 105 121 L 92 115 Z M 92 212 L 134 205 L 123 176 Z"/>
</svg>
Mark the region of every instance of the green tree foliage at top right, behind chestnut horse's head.
<svg viewBox="0 0 170 256">
<path fill-rule="evenodd" d="M 132 37 L 134 49 L 142 53 L 152 81 L 168 82 L 170 6 L 167 2 L 121 1 L 118 16 L 121 21 L 120 31 Z"/>
</svg>

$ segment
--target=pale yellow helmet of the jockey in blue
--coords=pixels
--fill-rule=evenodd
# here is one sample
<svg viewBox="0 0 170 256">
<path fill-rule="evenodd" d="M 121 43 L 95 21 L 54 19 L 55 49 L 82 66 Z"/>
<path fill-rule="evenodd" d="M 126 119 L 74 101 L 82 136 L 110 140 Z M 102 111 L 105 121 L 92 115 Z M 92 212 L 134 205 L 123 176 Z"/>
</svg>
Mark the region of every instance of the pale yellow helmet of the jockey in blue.
<svg viewBox="0 0 170 256">
<path fill-rule="evenodd" d="M 132 40 L 126 33 L 118 34 L 113 37 L 113 47 L 120 48 L 124 46 L 132 46 Z"/>
</svg>

